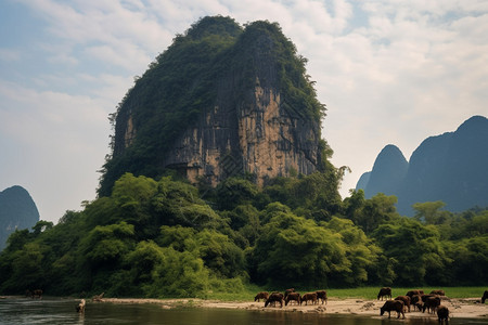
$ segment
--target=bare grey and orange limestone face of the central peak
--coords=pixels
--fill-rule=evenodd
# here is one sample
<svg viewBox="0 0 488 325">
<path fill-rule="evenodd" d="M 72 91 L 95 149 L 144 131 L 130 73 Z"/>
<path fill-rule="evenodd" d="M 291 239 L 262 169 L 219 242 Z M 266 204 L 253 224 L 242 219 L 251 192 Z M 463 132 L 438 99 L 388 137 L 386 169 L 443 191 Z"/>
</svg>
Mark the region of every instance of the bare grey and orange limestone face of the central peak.
<svg viewBox="0 0 488 325">
<path fill-rule="evenodd" d="M 256 86 L 248 103 L 206 109 L 176 141 L 163 166 L 214 185 L 243 172 L 256 174 L 262 184 L 267 178 L 316 171 L 318 126 L 288 116 L 280 104 L 279 93 Z"/>
</svg>

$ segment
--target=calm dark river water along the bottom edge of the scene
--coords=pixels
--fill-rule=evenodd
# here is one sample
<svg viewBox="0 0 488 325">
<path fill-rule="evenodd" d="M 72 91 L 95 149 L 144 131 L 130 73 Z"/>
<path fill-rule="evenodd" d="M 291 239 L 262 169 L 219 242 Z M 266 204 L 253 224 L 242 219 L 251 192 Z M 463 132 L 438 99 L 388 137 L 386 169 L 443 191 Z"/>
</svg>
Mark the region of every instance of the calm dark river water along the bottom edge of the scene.
<svg viewBox="0 0 488 325">
<path fill-rule="evenodd" d="M 307 324 L 307 325 L 378 325 L 378 324 L 437 324 L 437 318 L 365 317 L 334 314 L 293 312 L 262 312 L 200 308 L 162 309 L 157 304 L 87 303 L 85 314 L 75 307 L 79 299 L 31 300 L 26 298 L 0 299 L 0 325 L 7 324 Z M 449 324 L 488 324 L 486 320 L 452 318 Z"/>
</svg>

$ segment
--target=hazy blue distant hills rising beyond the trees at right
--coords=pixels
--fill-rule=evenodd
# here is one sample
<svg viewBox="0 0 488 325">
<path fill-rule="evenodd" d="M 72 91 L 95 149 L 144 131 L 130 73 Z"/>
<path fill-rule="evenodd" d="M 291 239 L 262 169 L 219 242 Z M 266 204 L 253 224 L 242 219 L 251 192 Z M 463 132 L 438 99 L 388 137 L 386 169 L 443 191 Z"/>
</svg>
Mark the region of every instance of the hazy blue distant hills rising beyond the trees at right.
<svg viewBox="0 0 488 325">
<path fill-rule="evenodd" d="M 376 193 L 396 195 L 401 214 L 413 216 L 415 203 L 442 200 L 446 209 L 463 211 L 488 206 L 488 119 L 473 116 L 454 132 L 429 136 L 407 162 L 387 145 L 377 156 L 369 180 L 356 188 L 367 198 Z M 368 177 L 367 177 L 368 178 Z"/>
</svg>

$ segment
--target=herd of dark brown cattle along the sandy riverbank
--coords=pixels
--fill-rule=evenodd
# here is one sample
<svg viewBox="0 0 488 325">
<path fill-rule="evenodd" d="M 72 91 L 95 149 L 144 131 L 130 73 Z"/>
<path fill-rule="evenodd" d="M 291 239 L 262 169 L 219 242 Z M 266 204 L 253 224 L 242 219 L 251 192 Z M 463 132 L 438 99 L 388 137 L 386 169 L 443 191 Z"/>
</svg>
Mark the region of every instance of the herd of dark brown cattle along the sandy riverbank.
<svg viewBox="0 0 488 325">
<path fill-rule="evenodd" d="M 404 296 L 398 296 L 395 299 L 391 299 L 391 288 L 384 287 L 380 289 L 377 294 L 377 300 L 385 299 L 385 304 L 380 309 L 380 315 L 383 315 L 385 312 L 388 312 L 388 318 L 391 316 L 391 312 L 397 312 L 398 316 L 403 316 L 404 313 L 413 311 L 418 309 L 419 311 L 428 313 L 437 313 L 437 317 L 439 323 L 449 322 L 449 309 L 446 306 L 440 304 L 442 298 L 446 297 L 446 292 L 444 290 L 432 290 L 431 294 L 424 294 L 423 290 L 409 290 Z M 312 304 L 319 303 L 322 301 L 323 303 L 328 303 L 328 292 L 325 290 L 318 290 L 314 292 L 307 292 L 300 296 L 300 294 L 295 292 L 295 289 L 286 289 L 284 294 L 281 292 L 272 292 L 271 295 L 268 292 L 259 292 L 254 298 L 254 301 L 265 300 L 265 307 L 275 306 L 280 303 L 280 307 L 283 307 L 283 302 L 285 306 L 292 302 L 296 304 L 308 304 L 309 302 Z M 488 290 L 486 290 L 481 297 L 481 303 L 485 303 L 485 300 L 488 299 Z"/>
</svg>

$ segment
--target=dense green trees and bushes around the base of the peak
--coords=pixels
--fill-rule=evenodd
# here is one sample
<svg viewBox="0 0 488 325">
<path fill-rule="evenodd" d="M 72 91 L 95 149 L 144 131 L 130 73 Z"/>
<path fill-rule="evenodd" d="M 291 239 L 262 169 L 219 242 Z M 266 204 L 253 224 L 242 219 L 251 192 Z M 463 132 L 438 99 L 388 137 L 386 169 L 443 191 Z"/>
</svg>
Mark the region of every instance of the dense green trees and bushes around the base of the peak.
<svg viewBox="0 0 488 325">
<path fill-rule="evenodd" d="M 56 225 L 41 221 L 13 233 L 0 255 L 0 292 L 206 298 L 252 284 L 488 283 L 488 210 L 453 214 L 424 203 L 407 218 L 395 197 L 364 199 L 359 191 L 341 200 L 324 184 L 323 173 L 264 188 L 229 179 L 209 193 L 170 177 L 127 173 L 111 196 L 67 211 Z"/>
</svg>

